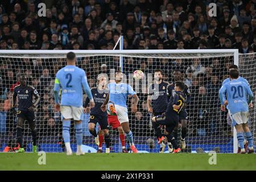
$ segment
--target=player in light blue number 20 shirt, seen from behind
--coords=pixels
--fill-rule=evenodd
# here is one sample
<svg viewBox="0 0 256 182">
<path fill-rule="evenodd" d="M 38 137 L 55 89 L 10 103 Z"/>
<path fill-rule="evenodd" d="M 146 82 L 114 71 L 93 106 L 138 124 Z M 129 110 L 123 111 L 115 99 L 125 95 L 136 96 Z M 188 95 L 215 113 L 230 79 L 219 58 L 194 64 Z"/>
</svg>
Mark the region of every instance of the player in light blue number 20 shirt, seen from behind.
<svg viewBox="0 0 256 182">
<path fill-rule="evenodd" d="M 225 111 L 225 106 L 229 104 L 230 117 L 232 118 L 232 125 L 237 130 L 237 140 L 241 147 L 241 154 L 246 153 L 243 146 L 243 132 L 245 132 L 248 141 L 248 154 L 251 154 L 254 153 L 253 137 L 247 122 L 249 119 L 249 107 L 253 107 L 253 104 L 250 103 L 253 99 L 253 92 L 248 84 L 238 80 L 239 72 L 237 69 L 231 69 L 229 75 L 230 82 L 221 86 L 219 91 L 221 110 Z"/>
</svg>

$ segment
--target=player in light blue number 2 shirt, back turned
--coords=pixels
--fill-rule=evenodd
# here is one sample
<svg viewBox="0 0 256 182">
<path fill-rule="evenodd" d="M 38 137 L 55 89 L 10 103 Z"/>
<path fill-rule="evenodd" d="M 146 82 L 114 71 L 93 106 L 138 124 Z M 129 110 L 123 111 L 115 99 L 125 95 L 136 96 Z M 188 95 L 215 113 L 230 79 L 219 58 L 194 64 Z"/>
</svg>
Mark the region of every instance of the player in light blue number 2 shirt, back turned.
<svg viewBox="0 0 256 182">
<path fill-rule="evenodd" d="M 59 90 L 61 91 L 61 104 L 59 103 Z M 87 82 L 85 71 L 76 67 L 76 55 L 73 52 L 67 54 L 67 65 L 56 73 L 54 98 L 55 109 L 60 111 L 63 116 L 63 139 L 67 150 L 67 155 L 72 155 L 70 146 L 69 129 L 71 119 L 75 121 L 76 128 L 76 155 L 84 155 L 81 150 L 82 145 L 82 121 L 81 116 L 84 108 L 82 107 L 82 87 L 90 100 L 90 107 L 94 107 L 92 92 Z"/>
</svg>

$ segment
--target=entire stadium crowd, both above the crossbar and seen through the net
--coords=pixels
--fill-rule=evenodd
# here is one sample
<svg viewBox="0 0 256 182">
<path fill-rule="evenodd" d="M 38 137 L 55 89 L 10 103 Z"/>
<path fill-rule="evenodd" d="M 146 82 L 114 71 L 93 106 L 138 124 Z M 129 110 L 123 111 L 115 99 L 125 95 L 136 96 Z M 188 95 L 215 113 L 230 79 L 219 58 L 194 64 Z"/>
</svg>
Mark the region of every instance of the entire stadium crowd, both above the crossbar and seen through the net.
<svg viewBox="0 0 256 182">
<path fill-rule="evenodd" d="M 46 17 L 38 16 L 39 1 L 0 2 L 0 49 L 113 49 L 120 35 L 124 49 L 205 49 L 236 48 L 240 53 L 256 52 L 256 1 L 217 0 L 217 16 L 210 17 L 212 1 L 89 0 L 44 1 Z M 230 60 L 230 61 L 229 61 Z M 126 57 L 126 75 L 141 69 L 144 73 L 163 71 L 163 80 L 172 82 L 179 69 L 191 89 L 188 106 L 194 135 L 210 135 L 218 125 L 228 131 L 225 114 L 218 113 L 218 89 L 228 74 L 230 59 L 133 59 Z M 0 126 L 14 121 L 10 114 L 12 93 L 26 73 L 41 96 L 38 107 L 40 134 L 59 135 L 59 113 L 53 111 L 52 89 L 63 59 L 7 59 L 0 62 Z M 80 57 L 79 67 L 96 86 L 99 73 L 118 69 L 119 58 Z M 93 65 L 93 67 L 92 67 Z M 135 135 L 153 135 L 147 113 L 146 94 L 139 94 L 138 112 L 131 119 Z M 193 106 L 197 107 L 193 107 Z M 5 113 L 7 112 L 7 113 Z M 221 117 L 219 122 L 218 117 Z M 218 121 L 218 122 L 217 122 Z M 139 125 L 138 125 L 139 123 Z M 6 122 L 11 131 L 15 123 Z M 214 126 L 213 126 L 214 125 Z M 135 127 L 136 126 L 136 127 Z M 138 127 L 139 126 L 139 127 Z M 203 129 L 203 131 L 201 130 Z M 212 130 L 211 130 L 212 129 Z M 47 132 L 49 131 L 49 132 Z M 1 132 L 1 131 L 0 131 Z"/>
</svg>

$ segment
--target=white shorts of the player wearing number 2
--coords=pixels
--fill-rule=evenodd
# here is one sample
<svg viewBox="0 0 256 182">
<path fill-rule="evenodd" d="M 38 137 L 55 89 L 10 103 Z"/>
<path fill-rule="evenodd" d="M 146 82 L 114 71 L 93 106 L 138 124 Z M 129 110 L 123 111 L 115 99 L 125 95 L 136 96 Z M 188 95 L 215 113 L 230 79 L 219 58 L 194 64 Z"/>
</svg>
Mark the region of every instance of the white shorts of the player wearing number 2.
<svg viewBox="0 0 256 182">
<path fill-rule="evenodd" d="M 60 106 L 60 113 L 64 119 L 74 119 L 75 121 L 82 120 L 82 111 L 84 107 L 74 107 L 74 106 Z"/>
</svg>

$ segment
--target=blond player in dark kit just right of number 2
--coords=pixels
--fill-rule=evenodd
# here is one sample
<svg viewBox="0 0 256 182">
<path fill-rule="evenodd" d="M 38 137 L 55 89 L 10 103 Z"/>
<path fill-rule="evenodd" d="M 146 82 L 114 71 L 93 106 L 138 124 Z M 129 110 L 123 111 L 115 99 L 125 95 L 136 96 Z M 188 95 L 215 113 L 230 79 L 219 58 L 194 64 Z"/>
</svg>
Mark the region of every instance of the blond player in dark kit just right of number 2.
<svg viewBox="0 0 256 182">
<path fill-rule="evenodd" d="M 95 101 L 95 107 L 90 109 L 90 120 L 89 120 L 89 131 L 95 138 L 100 137 L 96 132 L 96 125 L 99 123 L 100 130 L 104 133 L 104 138 L 106 142 L 106 153 L 109 153 L 109 146 L 110 146 L 110 136 L 109 136 L 109 129 L 108 129 L 108 117 L 106 111 L 101 110 L 101 105 L 106 100 L 106 96 L 108 95 L 109 91 L 106 89 L 106 76 L 104 74 L 98 75 L 97 78 L 97 87 L 92 88 L 92 96 L 93 100 Z M 85 107 L 88 106 L 90 100 L 87 97 L 85 101 Z M 101 132 L 99 132 L 101 133 Z M 102 135 L 101 135 L 102 136 Z M 102 152 L 102 146 L 98 147 L 97 152 Z"/>
</svg>

